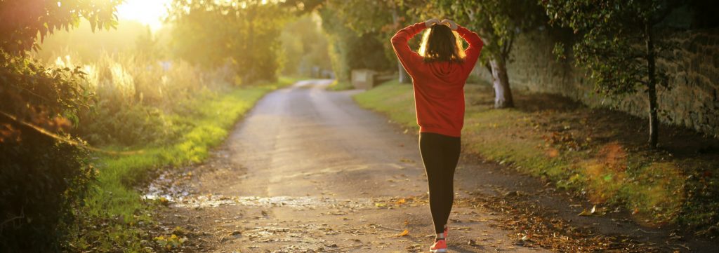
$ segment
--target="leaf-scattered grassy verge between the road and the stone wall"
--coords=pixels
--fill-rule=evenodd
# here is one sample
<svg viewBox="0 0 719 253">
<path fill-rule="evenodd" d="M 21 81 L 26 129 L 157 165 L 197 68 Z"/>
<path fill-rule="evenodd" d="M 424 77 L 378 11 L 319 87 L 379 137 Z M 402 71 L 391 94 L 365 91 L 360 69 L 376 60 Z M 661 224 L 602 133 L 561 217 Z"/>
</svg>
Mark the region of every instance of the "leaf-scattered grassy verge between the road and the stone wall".
<svg viewBox="0 0 719 253">
<path fill-rule="evenodd" d="M 640 224 L 678 222 L 716 236 L 718 140 L 662 126 L 663 148 L 649 151 L 640 118 L 521 92 L 518 108 L 495 110 L 489 87 L 467 85 L 465 92 L 464 151 L 576 191 L 599 210 L 626 208 Z M 354 99 L 417 129 L 411 85 L 388 82 Z"/>
</svg>

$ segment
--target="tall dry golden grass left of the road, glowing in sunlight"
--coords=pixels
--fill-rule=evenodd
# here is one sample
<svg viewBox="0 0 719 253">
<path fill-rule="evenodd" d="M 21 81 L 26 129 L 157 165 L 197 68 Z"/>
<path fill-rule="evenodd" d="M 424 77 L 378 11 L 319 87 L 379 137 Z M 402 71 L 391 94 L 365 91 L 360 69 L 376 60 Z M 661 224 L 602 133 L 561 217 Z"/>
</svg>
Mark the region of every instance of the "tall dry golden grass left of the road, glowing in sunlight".
<svg viewBox="0 0 719 253">
<path fill-rule="evenodd" d="M 166 143 L 191 124 L 174 122 L 173 115 L 191 111 L 193 100 L 228 90 L 234 78 L 229 68 L 209 72 L 142 54 L 106 53 L 96 62 L 80 62 L 73 54 L 53 58 L 54 67 L 86 73 L 83 85 L 95 102 L 79 114 L 75 131 L 94 145 Z"/>
</svg>

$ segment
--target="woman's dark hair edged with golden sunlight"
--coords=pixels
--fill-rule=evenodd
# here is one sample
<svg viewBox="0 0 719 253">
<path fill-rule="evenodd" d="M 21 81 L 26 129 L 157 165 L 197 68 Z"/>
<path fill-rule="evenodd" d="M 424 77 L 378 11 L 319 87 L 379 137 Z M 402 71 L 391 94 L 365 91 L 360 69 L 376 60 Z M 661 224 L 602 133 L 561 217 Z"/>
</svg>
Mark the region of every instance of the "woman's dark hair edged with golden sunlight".
<svg viewBox="0 0 719 253">
<path fill-rule="evenodd" d="M 422 37 L 419 55 L 424 62 L 462 62 L 462 40 L 448 26 L 433 24 Z"/>
</svg>

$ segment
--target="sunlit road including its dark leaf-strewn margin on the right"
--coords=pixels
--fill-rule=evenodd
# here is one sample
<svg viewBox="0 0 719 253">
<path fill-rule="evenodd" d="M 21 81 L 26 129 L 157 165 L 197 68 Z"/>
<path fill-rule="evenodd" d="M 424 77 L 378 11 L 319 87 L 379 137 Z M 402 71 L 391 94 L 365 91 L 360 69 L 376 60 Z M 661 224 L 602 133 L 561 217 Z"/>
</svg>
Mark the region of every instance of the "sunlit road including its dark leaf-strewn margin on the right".
<svg viewBox="0 0 719 253">
<path fill-rule="evenodd" d="M 359 108 L 359 91 L 324 90 L 330 82 L 266 95 L 206 163 L 150 187 L 170 199 L 159 219 L 168 233 L 192 231 L 183 252 L 427 252 L 434 234 L 416 135 Z M 476 156 L 462 156 L 455 181 L 450 252 L 717 247 L 633 224 L 626 210 L 577 216 L 592 204 Z"/>
</svg>

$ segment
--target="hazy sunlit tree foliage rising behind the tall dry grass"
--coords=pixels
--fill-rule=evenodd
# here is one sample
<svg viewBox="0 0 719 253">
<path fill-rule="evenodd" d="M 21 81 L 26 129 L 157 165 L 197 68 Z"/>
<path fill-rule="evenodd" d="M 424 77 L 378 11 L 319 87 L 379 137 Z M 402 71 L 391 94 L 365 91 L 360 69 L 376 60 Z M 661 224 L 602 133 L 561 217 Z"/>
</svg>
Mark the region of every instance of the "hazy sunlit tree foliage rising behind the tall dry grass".
<svg viewBox="0 0 719 253">
<path fill-rule="evenodd" d="M 178 57 L 210 70 L 230 65 L 244 83 L 277 79 L 280 32 L 288 16 L 280 6 L 175 0 L 172 7 Z"/>
</svg>

